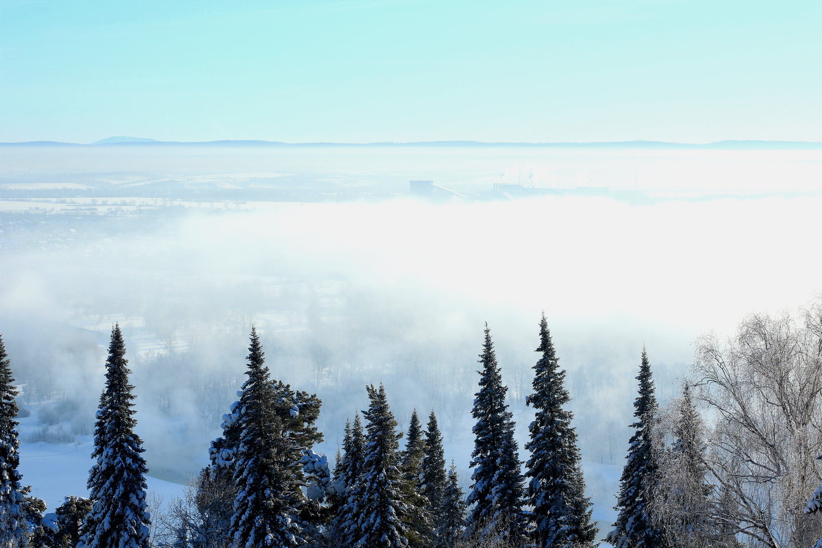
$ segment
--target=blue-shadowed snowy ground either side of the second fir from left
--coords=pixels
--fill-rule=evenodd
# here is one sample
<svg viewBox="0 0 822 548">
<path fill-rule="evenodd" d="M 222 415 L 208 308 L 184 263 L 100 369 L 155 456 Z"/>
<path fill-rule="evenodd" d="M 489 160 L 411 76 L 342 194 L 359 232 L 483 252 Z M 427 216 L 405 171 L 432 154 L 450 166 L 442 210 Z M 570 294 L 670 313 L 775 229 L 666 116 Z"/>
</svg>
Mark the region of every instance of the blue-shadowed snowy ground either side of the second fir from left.
<svg viewBox="0 0 822 548">
<path fill-rule="evenodd" d="M 33 495 L 45 500 L 53 511 L 62 504 L 66 495 L 88 496 L 85 481 L 91 467 L 92 438 L 77 436 L 69 444 L 52 444 L 39 441 L 31 443 L 30 436 L 40 428 L 36 413 L 20 420 L 20 472 L 23 484 L 31 486 Z M 149 500 L 170 500 L 182 496 L 184 486 L 170 481 L 147 477 Z"/>
</svg>

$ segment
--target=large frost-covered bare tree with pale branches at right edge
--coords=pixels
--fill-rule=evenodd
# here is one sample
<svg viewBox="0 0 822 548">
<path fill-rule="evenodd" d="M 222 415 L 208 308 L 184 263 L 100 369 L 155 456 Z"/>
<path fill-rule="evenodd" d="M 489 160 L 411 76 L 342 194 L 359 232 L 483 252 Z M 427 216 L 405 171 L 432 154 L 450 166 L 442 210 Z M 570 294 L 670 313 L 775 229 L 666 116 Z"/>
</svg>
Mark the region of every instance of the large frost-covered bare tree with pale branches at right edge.
<svg viewBox="0 0 822 548">
<path fill-rule="evenodd" d="M 802 513 L 822 453 L 822 301 L 799 318 L 750 315 L 725 343 L 697 345 L 713 431 L 707 463 L 750 546 L 805 548 L 822 523 Z"/>
</svg>

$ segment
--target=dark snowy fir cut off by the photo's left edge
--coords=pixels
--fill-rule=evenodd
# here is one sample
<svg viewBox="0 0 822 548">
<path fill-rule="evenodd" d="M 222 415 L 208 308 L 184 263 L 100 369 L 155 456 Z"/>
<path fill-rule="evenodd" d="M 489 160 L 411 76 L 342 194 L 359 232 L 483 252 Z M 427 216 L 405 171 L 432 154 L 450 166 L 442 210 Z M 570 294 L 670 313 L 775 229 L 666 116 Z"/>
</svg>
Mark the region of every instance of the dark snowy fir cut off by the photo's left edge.
<svg viewBox="0 0 822 548">
<path fill-rule="evenodd" d="M 17 387 L 12 364 L 0 336 L 0 545 L 25 546 L 28 524 L 25 519 L 21 485 L 20 440 L 17 435 Z"/>
</svg>

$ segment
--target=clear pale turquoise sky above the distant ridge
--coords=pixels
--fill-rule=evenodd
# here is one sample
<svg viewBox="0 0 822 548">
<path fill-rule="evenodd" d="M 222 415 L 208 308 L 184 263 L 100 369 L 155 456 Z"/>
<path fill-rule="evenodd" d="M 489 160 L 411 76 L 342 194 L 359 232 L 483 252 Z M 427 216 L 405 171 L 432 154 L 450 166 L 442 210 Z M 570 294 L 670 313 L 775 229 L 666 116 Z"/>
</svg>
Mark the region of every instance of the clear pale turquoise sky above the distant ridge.
<svg viewBox="0 0 822 548">
<path fill-rule="evenodd" d="M 0 141 L 822 140 L 822 2 L 0 0 Z"/>
</svg>

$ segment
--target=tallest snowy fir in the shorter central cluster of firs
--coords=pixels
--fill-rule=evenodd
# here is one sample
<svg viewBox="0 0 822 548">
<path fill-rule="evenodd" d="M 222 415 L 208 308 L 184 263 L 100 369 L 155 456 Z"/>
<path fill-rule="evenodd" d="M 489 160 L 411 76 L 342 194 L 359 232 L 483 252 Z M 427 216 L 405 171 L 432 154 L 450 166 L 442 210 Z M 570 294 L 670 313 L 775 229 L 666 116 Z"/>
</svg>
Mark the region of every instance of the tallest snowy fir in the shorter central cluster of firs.
<svg viewBox="0 0 822 548">
<path fill-rule="evenodd" d="M 346 531 L 346 548 L 401 548 L 408 546 L 402 516 L 405 504 L 399 472 L 397 421 L 388 407 L 386 389 L 366 387 L 370 405 L 365 418 L 366 444 L 363 473 L 345 509 L 356 518 Z"/>
</svg>

